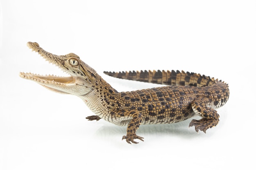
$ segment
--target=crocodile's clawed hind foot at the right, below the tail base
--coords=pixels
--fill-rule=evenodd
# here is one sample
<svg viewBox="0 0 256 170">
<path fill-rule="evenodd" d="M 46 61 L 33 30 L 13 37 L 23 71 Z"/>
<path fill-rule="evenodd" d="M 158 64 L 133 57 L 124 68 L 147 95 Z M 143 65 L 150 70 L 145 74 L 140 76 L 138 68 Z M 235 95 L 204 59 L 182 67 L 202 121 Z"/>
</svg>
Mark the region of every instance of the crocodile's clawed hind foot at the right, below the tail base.
<svg viewBox="0 0 256 170">
<path fill-rule="evenodd" d="M 191 126 L 195 126 L 195 131 L 198 132 L 198 130 L 203 131 L 204 133 L 206 133 L 206 130 L 209 128 L 212 128 L 213 126 L 216 126 L 218 124 L 217 120 L 214 119 L 200 119 L 200 120 L 195 120 L 193 119 L 190 124 L 189 127 Z"/>
</svg>

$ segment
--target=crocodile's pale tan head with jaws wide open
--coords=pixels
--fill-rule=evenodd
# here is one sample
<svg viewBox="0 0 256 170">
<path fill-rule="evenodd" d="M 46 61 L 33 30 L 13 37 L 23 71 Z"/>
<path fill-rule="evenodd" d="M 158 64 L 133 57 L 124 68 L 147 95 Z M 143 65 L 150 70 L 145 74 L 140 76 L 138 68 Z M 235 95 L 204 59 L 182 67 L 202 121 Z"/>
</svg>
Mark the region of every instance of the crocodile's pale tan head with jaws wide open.
<svg viewBox="0 0 256 170">
<path fill-rule="evenodd" d="M 70 76 L 61 77 L 21 72 L 20 77 L 37 82 L 45 88 L 58 93 L 86 95 L 92 90 L 92 84 L 95 82 L 97 73 L 93 68 L 80 60 L 78 55 L 74 53 L 54 55 L 43 50 L 36 42 L 28 42 L 27 46 Z"/>
</svg>

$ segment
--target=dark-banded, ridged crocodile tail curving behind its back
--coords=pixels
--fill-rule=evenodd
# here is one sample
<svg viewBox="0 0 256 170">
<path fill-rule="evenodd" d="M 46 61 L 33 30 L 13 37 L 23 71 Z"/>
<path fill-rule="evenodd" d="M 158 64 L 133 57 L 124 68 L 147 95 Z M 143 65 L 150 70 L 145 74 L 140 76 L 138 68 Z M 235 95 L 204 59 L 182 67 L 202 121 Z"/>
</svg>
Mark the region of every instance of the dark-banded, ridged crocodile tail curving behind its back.
<svg viewBox="0 0 256 170">
<path fill-rule="evenodd" d="M 185 71 L 126 71 L 126 72 L 108 72 L 104 71 L 106 75 L 120 78 L 130 79 L 139 82 L 148 82 L 154 84 L 164 84 L 168 86 L 211 86 L 215 84 L 214 78 L 200 75 L 197 73 L 189 73 Z"/>
</svg>

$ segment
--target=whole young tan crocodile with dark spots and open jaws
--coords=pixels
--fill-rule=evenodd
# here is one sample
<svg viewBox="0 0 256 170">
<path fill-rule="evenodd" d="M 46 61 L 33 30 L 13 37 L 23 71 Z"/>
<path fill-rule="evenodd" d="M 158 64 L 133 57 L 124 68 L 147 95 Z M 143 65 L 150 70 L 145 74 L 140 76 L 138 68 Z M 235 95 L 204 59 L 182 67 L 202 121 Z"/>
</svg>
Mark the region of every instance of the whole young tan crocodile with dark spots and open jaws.
<svg viewBox="0 0 256 170">
<path fill-rule="evenodd" d="M 104 72 L 121 79 L 166 85 L 119 93 L 74 53 L 53 55 L 37 43 L 28 42 L 27 45 L 71 76 L 20 73 L 22 78 L 31 79 L 58 93 L 77 95 L 95 114 L 87 117 L 88 120 L 104 119 L 127 126 L 127 134 L 122 139 L 128 143 L 137 143 L 134 139 L 143 141 L 143 137 L 136 135 L 141 124 L 170 124 L 195 115 L 202 119 L 193 119 L 189 126 L 195 126 L 197 132 L 206 132 L 218 124 L 216 109 L 229 98 L 228 84 L 196 73 L 159 70 Z"/>
</svg>

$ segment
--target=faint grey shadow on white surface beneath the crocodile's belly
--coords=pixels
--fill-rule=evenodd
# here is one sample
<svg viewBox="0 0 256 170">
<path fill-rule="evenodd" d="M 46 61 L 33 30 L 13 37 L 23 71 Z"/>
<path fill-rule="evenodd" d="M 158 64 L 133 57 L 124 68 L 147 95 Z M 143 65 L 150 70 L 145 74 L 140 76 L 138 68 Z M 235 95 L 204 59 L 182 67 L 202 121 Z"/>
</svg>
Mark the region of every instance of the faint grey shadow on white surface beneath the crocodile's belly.
<svg viewBox="0 0 256 170">
<path fill-rule="evenodd" d="M 150 139 L 171 137 L 176 139 L 193 139 L 200 137 L 209 137 L 213 134 L 213 129 L 209 129 L 207 134 L 204 132 L 195 132 L 194 127 L 189 128 L 189 123 L 192 119 L 200 119 L 200 117 L 193 117 L 191 119 L 174 123 L 174 124 L 155 124 L 155 125 L 141 125 L 137 130 L 136 134 L 144 137 L 144 141 L 150 141 Z M 96 136 L 102 140 L 119 142 L 118 139 L 121 139 L 123 135 L 126 135 L 126 126 L 115 126 L 113 124 L 103 124 L 97 131 Z M 212 132 L 210 132 L 212 131 Z M 115 141 L 117 140 L 117 141 Z M 171 140 L 170 140 L 171 141 Z M 141 143 L 141 142 L 140 142 Z"/>
</svg>

